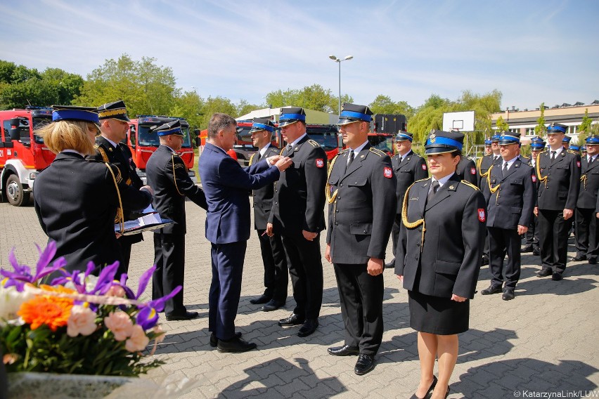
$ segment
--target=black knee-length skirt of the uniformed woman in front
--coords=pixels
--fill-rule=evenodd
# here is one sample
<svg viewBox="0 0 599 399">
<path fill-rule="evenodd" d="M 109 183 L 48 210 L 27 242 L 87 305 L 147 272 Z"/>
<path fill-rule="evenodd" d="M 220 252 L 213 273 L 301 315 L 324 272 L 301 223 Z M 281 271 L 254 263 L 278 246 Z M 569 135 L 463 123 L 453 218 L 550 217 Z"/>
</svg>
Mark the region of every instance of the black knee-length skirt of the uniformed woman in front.
<svg viewBox="0 0 599 399">
<path fill-rule="evenodd" d="M 449 298 L 408 291 L 410 327 L 418 332 L 453 335 L 468 331 L 470 300 L 451 301 Z"/>
</svg>

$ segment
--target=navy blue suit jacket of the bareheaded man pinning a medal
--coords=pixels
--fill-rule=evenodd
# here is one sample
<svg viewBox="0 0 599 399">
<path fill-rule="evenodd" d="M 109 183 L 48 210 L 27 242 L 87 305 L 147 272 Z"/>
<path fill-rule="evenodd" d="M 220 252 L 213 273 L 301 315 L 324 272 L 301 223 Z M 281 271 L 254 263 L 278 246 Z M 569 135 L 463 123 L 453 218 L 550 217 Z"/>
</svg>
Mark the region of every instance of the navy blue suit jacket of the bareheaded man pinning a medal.
<svg viewBox="0 0 599 399">
<path fill-rule="evenodd" d="M 206 143 L 198 163 L 206 193 L 206 238 L 214 244 L 228 244 L 250 238 L 249 190 L 276 181 L 280 173 L 266 159 L 247 168 L 216 145 Z"/>
</svg>

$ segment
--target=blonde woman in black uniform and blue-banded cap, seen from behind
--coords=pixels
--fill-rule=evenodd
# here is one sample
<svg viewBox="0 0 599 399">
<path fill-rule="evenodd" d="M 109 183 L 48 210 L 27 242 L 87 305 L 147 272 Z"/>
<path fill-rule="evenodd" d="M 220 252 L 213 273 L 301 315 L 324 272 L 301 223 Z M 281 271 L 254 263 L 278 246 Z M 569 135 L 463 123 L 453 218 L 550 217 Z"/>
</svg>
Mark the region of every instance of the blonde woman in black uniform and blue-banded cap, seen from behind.
<svg viewBox="0 0 599 399">
<path fill-rule="evenodd" d="M 122 261 L 117 211 L 145 209 L 152 190 L 127 185 L 112 164 L 84 159 L 94 154 L 100 132 L 96 108 L 55 105 L 52 121 L 36 131 L 57 155 L 35 179 L 35 211 L 44 233 L 56 241 L 54 259 L 64 256 L 68 271 L 85 270 L 91 261 L 97 275 L 103 266 Z"/>
</svg>

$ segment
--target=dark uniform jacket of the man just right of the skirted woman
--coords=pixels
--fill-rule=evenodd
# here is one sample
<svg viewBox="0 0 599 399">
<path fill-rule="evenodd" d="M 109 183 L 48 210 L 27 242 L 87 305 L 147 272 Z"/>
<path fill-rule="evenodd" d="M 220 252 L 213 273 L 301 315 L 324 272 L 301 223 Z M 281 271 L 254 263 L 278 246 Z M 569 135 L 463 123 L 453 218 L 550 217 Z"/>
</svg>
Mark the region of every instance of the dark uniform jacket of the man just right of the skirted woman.
<svg viewBox="0 0 599 399">
<path fill-rule="evenodd" d="M 489 192 L 487 227 L 513 230 L 518 225 L 528 226 L 536 202 L 534 170 L 520 158 L 505 175 L 501 166 L 501 162 L 492 166 L 489 173 L 491 187 L 496 191 Z"/>
</svg>

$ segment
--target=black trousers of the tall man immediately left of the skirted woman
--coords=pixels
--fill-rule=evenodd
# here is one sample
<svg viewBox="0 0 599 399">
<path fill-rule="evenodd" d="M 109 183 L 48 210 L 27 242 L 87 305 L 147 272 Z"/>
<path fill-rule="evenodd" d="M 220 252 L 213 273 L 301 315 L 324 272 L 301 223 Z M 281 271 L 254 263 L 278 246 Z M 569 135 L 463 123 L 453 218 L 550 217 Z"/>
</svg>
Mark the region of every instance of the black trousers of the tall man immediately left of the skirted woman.
<svg viewBox="0 0 599 399">
<path fill-rule="evenodd" d="M 382 341 L 382 274 L 372 276 L 366 264 L 334 263 L 341 315 L 345 325 L 345 345 L 375 355 Z"/>
</svg>

